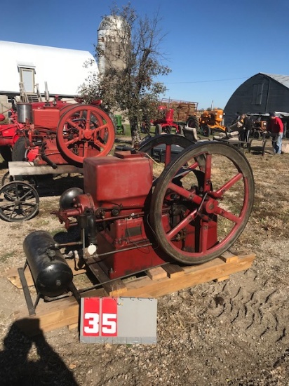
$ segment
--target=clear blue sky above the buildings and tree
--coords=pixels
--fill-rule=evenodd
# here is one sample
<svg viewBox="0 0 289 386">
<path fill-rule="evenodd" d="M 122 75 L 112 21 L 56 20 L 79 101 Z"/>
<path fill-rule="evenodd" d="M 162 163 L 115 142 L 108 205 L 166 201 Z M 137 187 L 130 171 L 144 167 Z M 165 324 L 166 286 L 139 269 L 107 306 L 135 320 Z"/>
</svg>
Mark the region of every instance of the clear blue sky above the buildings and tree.
<svg viewBox="0 0 289 386">
<path fill-rule="evenodd" d="M 114 1 L 118 6 L 128 1 Z M 138 15 L 159 13 L 161 51 L 172 72 L 166 98 L 224 108 L 246 79 L 289 75 L 288 0 L 132 0 Z M 14 0 L 1 5 L 0 40 L 90 51 L 109 0 Z M 3 58 L 1 58 L 3 60 Z"/>
</svg>

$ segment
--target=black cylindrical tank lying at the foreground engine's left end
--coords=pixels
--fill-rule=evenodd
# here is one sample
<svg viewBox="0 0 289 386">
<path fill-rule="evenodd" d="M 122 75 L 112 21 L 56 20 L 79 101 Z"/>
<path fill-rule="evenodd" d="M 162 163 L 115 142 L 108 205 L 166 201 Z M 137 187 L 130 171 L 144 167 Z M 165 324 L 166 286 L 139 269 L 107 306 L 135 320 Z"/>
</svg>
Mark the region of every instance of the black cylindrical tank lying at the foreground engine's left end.
<svg viewBox="0 0 289 386">
<path fill-rule="evenodd" d="M 53 248 L 55 241 L 45 231 L 35 231 L 23 241 L 23 250 L 37 291 L 54 298 L 72 283 L 73 273 L 62 253 Z"/>
</svg>

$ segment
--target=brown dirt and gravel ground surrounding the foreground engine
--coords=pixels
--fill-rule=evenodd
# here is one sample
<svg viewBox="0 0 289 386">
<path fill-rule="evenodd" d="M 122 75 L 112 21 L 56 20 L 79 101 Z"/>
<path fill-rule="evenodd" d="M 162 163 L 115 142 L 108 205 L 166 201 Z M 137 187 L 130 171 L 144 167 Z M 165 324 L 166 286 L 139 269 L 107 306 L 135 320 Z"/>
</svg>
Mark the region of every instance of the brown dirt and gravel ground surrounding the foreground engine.
<svg viewBox="0 0 289 386">
<path fill-rule="evenodd" d="M 22 266 L 22 242 L 35 229 L 60 232 L 50 211 L 63 186 L 49 182 L 36 218 L 0 220 L 1 385 L 285 386 L 289 382 L 289 154 L 253 152 L 255 204 L 234 251 L 256 254 L 253 267 L 158 300 L 156 345 L 79 342 L 76 329 L 27 338 L 13 312 L 25 300 L 6 278 Z M 6 173 L 0 161 L 0 175 Z M 75 177 L 74 185 L 81 185 Z"/>
</svg>

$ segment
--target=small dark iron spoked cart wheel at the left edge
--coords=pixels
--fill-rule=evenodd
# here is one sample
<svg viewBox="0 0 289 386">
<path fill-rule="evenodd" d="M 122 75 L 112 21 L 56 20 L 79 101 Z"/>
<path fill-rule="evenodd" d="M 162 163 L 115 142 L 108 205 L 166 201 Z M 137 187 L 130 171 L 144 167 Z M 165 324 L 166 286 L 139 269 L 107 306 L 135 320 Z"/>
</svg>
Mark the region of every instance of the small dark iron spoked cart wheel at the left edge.
<svg viewBox="0 0 289 386">
<path fill-rule="evenodd" d="M 0 189 L 0 218 L 8 222 L 30 220 L 39 212 L 39 195 L 27 182 L 12 181 Z"/>
</svg>

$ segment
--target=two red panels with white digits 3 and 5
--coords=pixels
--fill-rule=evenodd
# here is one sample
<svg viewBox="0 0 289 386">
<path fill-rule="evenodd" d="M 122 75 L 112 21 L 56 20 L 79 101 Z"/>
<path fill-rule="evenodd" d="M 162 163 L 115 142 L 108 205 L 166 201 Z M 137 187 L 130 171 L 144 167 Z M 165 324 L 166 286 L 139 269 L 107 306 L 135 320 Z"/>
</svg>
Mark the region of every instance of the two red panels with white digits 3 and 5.
<svg viewBox="0 0 289 386">
<path fill-rule="evenodd" d="M 83 299 L 83 336 L 117 336 L 117 300 Z"/>
</svg>

